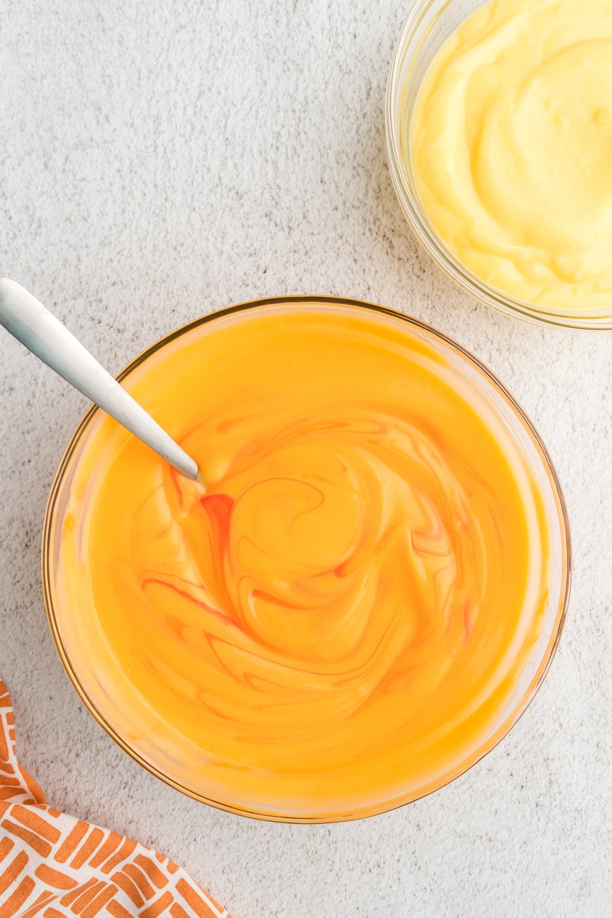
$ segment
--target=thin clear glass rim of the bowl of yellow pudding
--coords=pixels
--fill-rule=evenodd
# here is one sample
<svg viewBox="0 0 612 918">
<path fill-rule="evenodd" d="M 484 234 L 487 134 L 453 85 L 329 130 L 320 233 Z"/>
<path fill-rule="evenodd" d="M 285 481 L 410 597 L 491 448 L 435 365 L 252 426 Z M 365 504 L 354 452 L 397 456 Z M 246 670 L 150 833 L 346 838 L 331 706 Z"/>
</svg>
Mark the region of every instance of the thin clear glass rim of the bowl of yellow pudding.
<svg viewBox="0 0 612 918">
<path fill-rule="evenodd" d="M 395 42 L 395 48 L 389 66 L 389 75 L 386 84 L 384 101 L 384 132 L 386 135 L 386 151 L 389 162 L 391 181 L 395 188 L 395 195 L 406 218 L 408 226 L 417 237 L 417 241 L 428 253 L 429 257 L 439 268 L 451 278 L 465 293 L 485 306 L 496 309 L 506 316 L 524 319 L 535 325 L 549 325 L 558 328 L 577 330 L 610 330 L 612 329 L 612 302 L 609 313 L 601 315 L 596 312 L 553 312 L 538 309 L 534 304 L 525 300 L 507 297 L 502 291 L 497 290 L 469 271 L 455 258 L 449 249 L 440 240 L 440 237 L 429 226 L 423 207 L 416 193 L 413 193 L 404 178 L 402 158 L 399 150 L 399 136 L 395 117 L 395 100 L 401 89 L 402 64 L 410 44 L 417 39 L 418 29 L 428 16 L 431 8 L 439 0 L 413 0 L 410 12 L 400 30 Z M 484 0 L 486 2 L 486 0 Z M 452 3 L 445 0 L 443 6 L 437 11 L 435 17 L 428 24 L 428 31 L 436 27 L 436 22 L 441 12 Z M 610 297 L 612 300 L 612 296 Z"/>
</svg>

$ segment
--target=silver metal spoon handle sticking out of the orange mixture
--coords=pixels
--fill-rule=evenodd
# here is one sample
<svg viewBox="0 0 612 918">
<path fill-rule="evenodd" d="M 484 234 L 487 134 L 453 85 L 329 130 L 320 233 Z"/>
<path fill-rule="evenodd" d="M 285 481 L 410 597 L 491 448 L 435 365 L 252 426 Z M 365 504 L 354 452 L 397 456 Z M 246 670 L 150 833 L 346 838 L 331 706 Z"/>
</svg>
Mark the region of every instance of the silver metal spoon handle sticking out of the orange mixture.
<svg viewBox="0 0 612 918">
<path fill-rule="evenodd" d="M 119 386 L 59 319 L 24 287 L 6 277 L 0 279 L 0 325 L 184 476 L 197 476 L 194 460 L 157 421 Z"/>
</svg>

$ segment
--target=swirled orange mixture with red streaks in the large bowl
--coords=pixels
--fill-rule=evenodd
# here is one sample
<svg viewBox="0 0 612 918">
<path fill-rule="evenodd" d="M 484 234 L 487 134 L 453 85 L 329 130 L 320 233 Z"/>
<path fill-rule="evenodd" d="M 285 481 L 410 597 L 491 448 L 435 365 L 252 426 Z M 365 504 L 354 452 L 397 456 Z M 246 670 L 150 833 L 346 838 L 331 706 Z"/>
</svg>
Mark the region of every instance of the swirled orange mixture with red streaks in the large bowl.
<svg viewBox="0 0 612 918">
<path fill-rule="evenodd" d="M 99 413 L 60 631 L 150 766 L 299 817 L 407 799 L 477 755 L 540 633 L 549 534 L 517 438 L 451 354 L 340 307 L 184 334 L 127 386 L 204 484 Z"/>
</svg>

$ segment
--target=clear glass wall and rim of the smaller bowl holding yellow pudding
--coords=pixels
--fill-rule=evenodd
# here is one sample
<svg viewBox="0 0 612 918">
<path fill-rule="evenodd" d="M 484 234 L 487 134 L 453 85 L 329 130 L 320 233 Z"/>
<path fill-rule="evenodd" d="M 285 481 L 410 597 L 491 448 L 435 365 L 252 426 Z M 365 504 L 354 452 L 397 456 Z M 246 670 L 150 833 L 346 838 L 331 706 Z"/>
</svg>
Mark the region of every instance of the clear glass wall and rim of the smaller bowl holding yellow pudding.
<svg viewBox="0 0 612 918">
<path fill-rule="evenodd" d="M 414 0 L 397 39 L 387 80 L 384 123 L 395 194 L 417 240 L 454 283 L 486 306 L 541 325 L 612 329 L 609 310 L 568 312 L 539 309 L 485 284 L 449 251 L 431 226 L 417 192 L 410 159 L 410 125 L 418 90 L 440 46 L 462 21 L 488 0 Z"/>
</svg>

